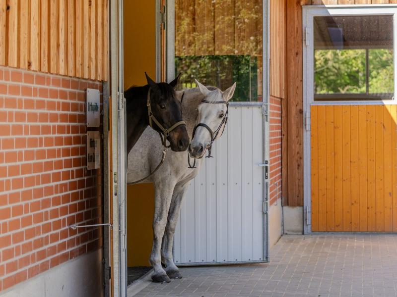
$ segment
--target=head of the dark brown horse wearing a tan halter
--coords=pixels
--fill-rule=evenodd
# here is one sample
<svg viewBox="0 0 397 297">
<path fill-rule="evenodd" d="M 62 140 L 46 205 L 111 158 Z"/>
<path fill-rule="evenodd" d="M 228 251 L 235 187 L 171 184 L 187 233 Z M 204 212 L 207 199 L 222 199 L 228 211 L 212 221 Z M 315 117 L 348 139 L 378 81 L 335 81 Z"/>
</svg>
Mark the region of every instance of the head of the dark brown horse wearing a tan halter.
<svg viewBox="0 0 397 297">
<path fill-rule="evenodd" d="M 182 122 L 181 99 L 178 98 L 174 90 L 180 75 L 169 84 L 155 83 L 146 72 L 145 75 L 150 87 L 149 104 L 152 113 L 150 125 L 157 132 L 165 134 L 172 150 L 186 150 L 189 146 L 189 135 L 186 125 L 180 123 Z M 174 125 L 176 125 L 175 128 Z M 166 130 L 165 133 L 164 130 Z"/>
</svg>

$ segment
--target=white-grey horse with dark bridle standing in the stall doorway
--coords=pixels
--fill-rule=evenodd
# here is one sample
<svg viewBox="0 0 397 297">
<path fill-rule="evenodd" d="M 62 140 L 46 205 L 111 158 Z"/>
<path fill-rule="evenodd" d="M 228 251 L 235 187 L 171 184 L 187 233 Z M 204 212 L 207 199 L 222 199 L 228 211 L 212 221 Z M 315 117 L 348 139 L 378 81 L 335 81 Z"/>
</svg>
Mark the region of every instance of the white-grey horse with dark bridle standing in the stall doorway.
<svg viewBox="0 0 397 297">
<path fill-rule="evenodd" d="M 234 83 L 222 92 L 214 87 L 208 89 L 198 81 L 196 83 L 199 88 L 178 92 L 182 98 L 183 120 L 192 139 L 188 153 L 196 161 L 196 168 L 188 167 L 187 152 L 169 150 L 162 166 L 144 181 L 154 183 L 155 189 L 150 264 L 154 269 L 152 280 L 159 283 L 182 278 L 172 256 L 181 203 L 189 182 L 199 173 L 206 149 L 222 135 L 227 120 L 228 100 L 233 97 L 236 88 Z M 146 129 L 128 155 L 127 183 L 149 175 L 158 165 L 162 150 L 157 132 Z M 193 165 L 193 160 L 191 162 Z"/>
</svg>

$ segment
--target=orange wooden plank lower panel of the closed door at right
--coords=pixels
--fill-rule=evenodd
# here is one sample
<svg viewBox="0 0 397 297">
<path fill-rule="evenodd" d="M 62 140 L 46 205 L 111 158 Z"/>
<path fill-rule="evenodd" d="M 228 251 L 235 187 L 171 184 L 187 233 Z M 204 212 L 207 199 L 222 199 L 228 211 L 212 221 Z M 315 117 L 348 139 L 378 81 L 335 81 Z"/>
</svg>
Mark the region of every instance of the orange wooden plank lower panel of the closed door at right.
<svg viewBox="0 0 397 297">
<path fill-rule="evenodd" d="M 311 106 L 312 231 L 397 231 L 397 105 Z"/>
</svg>

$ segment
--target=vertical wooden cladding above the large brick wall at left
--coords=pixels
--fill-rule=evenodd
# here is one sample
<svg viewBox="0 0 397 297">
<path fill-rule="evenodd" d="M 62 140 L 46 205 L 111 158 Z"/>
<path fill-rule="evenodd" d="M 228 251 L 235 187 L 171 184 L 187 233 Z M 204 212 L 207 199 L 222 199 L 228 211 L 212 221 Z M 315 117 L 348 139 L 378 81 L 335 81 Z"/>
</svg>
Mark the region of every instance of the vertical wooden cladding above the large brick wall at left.
<svg viewBox="0 0 397 297">
<path fill-rule="evenodd" d="M 0 65 L 108 80 L 109 0 L 0 0 Z"/>
</svg>

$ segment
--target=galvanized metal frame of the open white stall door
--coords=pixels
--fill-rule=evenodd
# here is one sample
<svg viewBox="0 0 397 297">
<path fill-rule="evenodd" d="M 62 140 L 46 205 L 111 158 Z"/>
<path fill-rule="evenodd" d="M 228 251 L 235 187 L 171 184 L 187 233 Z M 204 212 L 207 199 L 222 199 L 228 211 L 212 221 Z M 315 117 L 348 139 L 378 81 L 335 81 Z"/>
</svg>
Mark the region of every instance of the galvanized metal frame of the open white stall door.
<svg viewBox="0 0 397 297">
<path fill-rule="evenodd" d="M 263 172 L 263 184 L 264 184 L 264 197 L 263 197 L 263 259 L 264 261 L 239 261 L 238 263 L 251 263 L 251 262 L 268 262 L 269 261 L 269 226 L 268 226 L 268 216 L 269 216 L 269 182 L 270 179 L 266 179 L 265 171 L 269 170 L 269 157 L 270 157 L 270 142 L 269 142 L 269 52 L 270 52 L 270 44 L 269 44 L 269 27 L 270 27 L 270 18 L 269 18 L 269 4 L 270 0 L 263 0 L 263 101 L 262 102 L 230 102 L 230 106 L 262 106 L 263 110 L 263 131 L 264 131 L 264 141 L 263 141 L 263 159 L 266 166 L 264 166 Z M 167 81 L 171 81 L 175 78 L 175 0 L 166 0 L 166 30 L 167 30 L 167 43 L 166 43 L 166 77 Z M 228 262 L 225 264 L 230 264 L 233 262 Z M 192 263 L 194 264 L 194 263 Z M 202 263 L 197 263 L 198 265 Z M 223 264 L 223 263 L 221 263 Z M 206 265 L 210 265 L 210 263 L 206 263 Z M 219 265 L 219 263 L 215 263 L 215 265 Z M 180 266 L 183 266 L 183 264 Z"/>
</svg>

